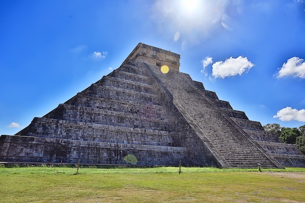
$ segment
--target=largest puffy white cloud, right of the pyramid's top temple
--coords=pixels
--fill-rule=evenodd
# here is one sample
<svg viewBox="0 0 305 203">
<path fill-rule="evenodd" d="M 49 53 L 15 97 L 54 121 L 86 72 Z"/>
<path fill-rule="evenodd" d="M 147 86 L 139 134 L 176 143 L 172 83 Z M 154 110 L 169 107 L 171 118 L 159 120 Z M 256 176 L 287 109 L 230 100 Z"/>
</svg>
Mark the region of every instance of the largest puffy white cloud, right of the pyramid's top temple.
<svg viewBox="0 0 305 203">
<path fill-rule="evenodd" d="M 217 78 L 225 78 L 234 75 L 241 75 L 250 70 L 254 66 L 247 57 L 238 56 L 233 58 L 232 56 L 225 61 L 217 61 L 212 65 L 212 75 Z"/>
</svg>

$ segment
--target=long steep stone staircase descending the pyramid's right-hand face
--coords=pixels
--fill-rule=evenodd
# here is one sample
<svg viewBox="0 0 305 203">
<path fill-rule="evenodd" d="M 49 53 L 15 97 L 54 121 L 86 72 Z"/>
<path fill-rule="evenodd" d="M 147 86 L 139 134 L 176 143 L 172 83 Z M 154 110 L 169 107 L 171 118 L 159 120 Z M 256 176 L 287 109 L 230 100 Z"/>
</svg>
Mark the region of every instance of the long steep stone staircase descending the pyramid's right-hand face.
<svg viewBox="0 0 305 203">
<path fill-rule="evenodd" d="M 188 74 L 170 72 L 164 75 L 152 66 L 147 67 L 165 84 L 172 93 L 173 103 L 193 128 L 198 129 L 199 136 L 210 141 L 210 148 L 223 157 L 227 167 L 257 167 L 258 164 L 265 168 L 281 167 L 280 164 L 276 166 L 273 163 L 276 161 L 267 157 L 266 151 L 245 136 L 246 133 L 205 95 L 202 83 L 197 88 L 198 82 L 194 84 Z"/>
</svg>

